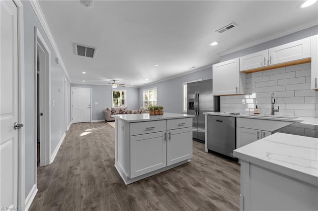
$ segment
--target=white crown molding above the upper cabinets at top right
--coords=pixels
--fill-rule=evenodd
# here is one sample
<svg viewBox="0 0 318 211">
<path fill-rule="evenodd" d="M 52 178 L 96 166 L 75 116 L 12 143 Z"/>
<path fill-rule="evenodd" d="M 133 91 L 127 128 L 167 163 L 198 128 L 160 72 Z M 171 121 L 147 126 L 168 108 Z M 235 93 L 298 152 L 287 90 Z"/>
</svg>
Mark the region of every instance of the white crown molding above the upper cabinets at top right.
<svg viewBox="0 0 318 211">
<path fill-rule="evenodd" d="M 286 35 L 289 35 L 289 34 L 292 34 L 292 33 L 307 29 L 307 28 L 310 28 L 312 26 L 316 26 L 317 24 L 318 24 L 318 22 L 317 22 L 317 20 L 315 20 L 313 22 L 310 22 L 310 23 L 307 23 L 307 24 L 303 24 L 302 26 L 295 27 L 295 28 L 293 28 L 291 30 L 288 30 L 288 31 L 285 31 L 285 32 L 276 33 L 276 34 L 273 34 L 273 35 L 270 35 L 270 36 L 267 36 L 267 37 L 264 37 L 264 38 L 249 42 L 249 43 L 246 43 L 244 45 L 228 49 L 226 51 L 218 53 L 218 55 L 219 56 L 224 56 L 224 55 L 227 55 L 227 54 L 230 54 L 230 53 L 238 52 L 240 50 L 247 49 L 249 47 L 256 46 L 258 44 L 265 43 L 267 41 L 271 41 L 271 40 L 274 40 L 274 39 L 277 39 L 277 38 L 280 38 L 280 37 L 283 37 L 283 36 L 286 36 Z"/>
</svg>

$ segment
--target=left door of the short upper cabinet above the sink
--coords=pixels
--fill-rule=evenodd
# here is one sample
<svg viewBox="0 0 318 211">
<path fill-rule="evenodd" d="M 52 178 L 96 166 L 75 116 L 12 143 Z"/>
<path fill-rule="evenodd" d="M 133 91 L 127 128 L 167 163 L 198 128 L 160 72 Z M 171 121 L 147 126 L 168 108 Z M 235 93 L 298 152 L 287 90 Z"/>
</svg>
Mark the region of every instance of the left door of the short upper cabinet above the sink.
<svg viewBox="0 0 318 211">
<path fill-rule="evenodd" d="M 267 66 L 268 50 L 239 57 L 239 71 Z"/>
</svg>

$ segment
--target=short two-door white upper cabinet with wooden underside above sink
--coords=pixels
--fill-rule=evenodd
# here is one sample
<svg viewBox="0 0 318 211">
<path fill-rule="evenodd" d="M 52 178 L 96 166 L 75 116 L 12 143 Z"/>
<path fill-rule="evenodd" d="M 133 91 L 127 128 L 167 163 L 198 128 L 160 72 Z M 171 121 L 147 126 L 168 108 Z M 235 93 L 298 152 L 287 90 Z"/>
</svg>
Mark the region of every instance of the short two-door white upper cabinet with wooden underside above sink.
<svg viewBox="0 0 318 211">
<path fill-rule="evenodd" d="M 241 56 L 239 57 L 239 71 L 248 73 L 301 64 L 310 62 L 310 60 L 301 60 L 310 57 L 313 56 L 311 55 L 311 38 L 308 37 L 261 52 Z M 292 63 L 288 64 L 287 62 Z M 281 64 L 281 66 L 278 66 L 278 64 Z"/>
</svg>

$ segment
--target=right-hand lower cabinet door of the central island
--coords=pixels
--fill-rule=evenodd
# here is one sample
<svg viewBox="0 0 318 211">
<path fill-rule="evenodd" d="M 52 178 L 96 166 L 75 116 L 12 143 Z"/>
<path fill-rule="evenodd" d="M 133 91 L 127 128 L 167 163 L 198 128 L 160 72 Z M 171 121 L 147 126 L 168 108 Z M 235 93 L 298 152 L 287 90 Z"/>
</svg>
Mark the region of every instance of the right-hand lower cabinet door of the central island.
<svg viewBox="0 0 318 211">
<path fill-rule="evenodd" d="M 167 131 L 167 165 L 192 158 L 192 127 Z"/>
</svg>

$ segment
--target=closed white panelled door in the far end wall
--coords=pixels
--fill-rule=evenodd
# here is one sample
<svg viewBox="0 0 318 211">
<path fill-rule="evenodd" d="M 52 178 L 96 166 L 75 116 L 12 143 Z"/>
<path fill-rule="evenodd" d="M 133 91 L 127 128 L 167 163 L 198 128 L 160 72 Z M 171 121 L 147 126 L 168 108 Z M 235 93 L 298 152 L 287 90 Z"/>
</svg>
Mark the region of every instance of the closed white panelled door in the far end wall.
<svg viewBox="0 0 318 211">
<path fill-rule="evenodd" d="M 90 89 L 72 88 L 72 121 L 90 122 Z"/>
</svg>

